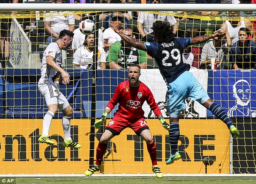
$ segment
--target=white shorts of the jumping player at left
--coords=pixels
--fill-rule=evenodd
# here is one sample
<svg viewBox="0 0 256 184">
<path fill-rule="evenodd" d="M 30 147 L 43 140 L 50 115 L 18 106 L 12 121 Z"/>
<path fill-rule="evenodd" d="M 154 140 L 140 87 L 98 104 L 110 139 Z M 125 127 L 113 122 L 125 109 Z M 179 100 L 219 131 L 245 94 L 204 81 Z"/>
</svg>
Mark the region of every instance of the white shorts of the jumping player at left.
<svg viewBox="0 0 256 184">
<path fill-rule="evenodd" d="M 56 84 L 38 84 L 38 90 L 44 96 L 47 107 L 50 104 L 57 104 L 58 109 L 63 111 L 67 106 L 69 106 L 69 102 L 67 98 L 62 94 L 62 92 L 57 88 Z"/>
</svg>

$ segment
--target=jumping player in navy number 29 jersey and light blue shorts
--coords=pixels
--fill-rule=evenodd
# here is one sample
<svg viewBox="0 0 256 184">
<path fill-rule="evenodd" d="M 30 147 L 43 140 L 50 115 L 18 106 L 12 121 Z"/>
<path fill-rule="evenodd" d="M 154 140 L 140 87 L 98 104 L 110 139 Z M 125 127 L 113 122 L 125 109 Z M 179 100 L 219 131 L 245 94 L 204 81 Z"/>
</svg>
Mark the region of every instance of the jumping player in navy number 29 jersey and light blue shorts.
<svg viewBox="0 0 256 184">
<path fill-rule="evenodd" d="M 197 100 L 201 105 L 212 111 L 212 113 L 221 119 L 229 128 L 233 138 L 239 136 L 237 128 L 227 116 L 227 113 L 212 101 L 201 84 L 189 72 L 190 65 L 183 63 L 183 50 L 189 45 L 204 43 L 211 38 L 222 38 L 225 33 L 214 33 L 194 38 L 174 38 L 170 24 L 166 21 L 155 21 L 153 23 L 154 41 L 139 42 L 134 38 L 126 36 L 119 30 L 116 23 L 110 23 L 114 31 L 122 39 L 134 48 L 145 50 L 149 55 L 155 58 L 160 73 L 168 86 L 167 105 L 170 116 L 169 140 L 171 145 L 170 158 L 166 164 L 172 164 L 181 158 L 178 153 L 178 139 L 180 137 L 179 115 L 186 108 L 185 99 L 187 97 Z"/>
</svg>

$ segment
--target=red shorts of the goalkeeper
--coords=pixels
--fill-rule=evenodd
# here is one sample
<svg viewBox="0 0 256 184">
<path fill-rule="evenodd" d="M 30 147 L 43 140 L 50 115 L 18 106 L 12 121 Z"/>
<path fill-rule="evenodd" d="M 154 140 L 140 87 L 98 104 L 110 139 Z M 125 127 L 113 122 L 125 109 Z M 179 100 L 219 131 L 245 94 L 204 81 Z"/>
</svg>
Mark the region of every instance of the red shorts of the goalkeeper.
<svg viewBox="0 0 256 184">
<path fill-rule="evenodd" d="M 126 128 L 131 128 L 138 136 L 141 135 L 143 130 L 149 130 L 144 117 L 129 121 L 118 116 L 113 117 L 113 119 L 107 125 L 106 130 L 109 130 L 114 136 L 117 136 Z"/>
</svg>

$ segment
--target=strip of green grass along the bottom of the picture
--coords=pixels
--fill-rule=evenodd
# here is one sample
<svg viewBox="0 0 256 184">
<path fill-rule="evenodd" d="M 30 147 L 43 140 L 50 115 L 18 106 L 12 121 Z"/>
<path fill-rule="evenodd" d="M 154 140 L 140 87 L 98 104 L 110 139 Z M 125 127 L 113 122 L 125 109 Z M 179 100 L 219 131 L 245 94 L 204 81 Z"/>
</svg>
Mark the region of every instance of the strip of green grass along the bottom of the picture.
<svg viewBox="0 0 256 184">
<path fill-rule="evenodd" d="M 16 184 L 256 184 L 256 177 L 51 177 L 16 178 Z"/>
</svg>

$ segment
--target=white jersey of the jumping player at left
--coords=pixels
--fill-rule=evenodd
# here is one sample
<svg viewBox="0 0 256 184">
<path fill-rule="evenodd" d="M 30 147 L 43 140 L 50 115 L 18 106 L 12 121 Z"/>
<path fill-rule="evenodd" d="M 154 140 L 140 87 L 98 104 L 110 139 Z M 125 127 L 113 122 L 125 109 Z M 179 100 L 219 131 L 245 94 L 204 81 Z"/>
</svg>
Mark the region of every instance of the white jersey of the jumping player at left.
<svg viewBox="0 0 256 184">
<path fill-rule="evenodd" d="M 59 48 L 57 42 L 50 43 L 44 50 L 41 65 L 41 78 L 39 79 L 38 85 L 51 83 L 57 84 L 58 86 L 60 73 L 52 67 L 50 67 L 50 65 L 47 65 L 46 56 L 52 56 L 54 58 L 55 63 L 61 67 L 62 55 L 61 49 Z"/>
</svg>

